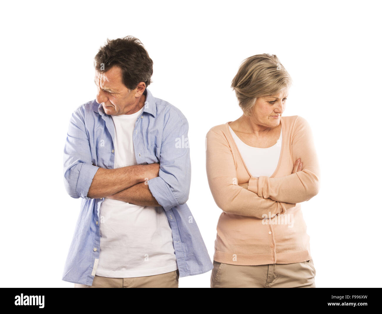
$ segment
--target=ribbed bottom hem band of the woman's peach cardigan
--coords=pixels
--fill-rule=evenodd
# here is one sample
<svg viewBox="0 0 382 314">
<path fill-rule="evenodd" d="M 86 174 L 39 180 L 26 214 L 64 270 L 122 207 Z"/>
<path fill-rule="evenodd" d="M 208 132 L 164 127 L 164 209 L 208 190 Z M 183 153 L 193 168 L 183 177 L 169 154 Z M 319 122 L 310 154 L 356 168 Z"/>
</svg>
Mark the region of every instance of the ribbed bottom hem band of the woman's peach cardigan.
<svg viewBox="0 0 382 314">
<path fill-rule="evenodd" d="M 215 250 L 214 254 L 214 261 L 232 265 L 291 264 L 309 261 L 309 259 L 312 259 L 312 256 L 308 250 L 276 253 L 276 258 L 272 253 L 235 254 Z"/>
</svg>

